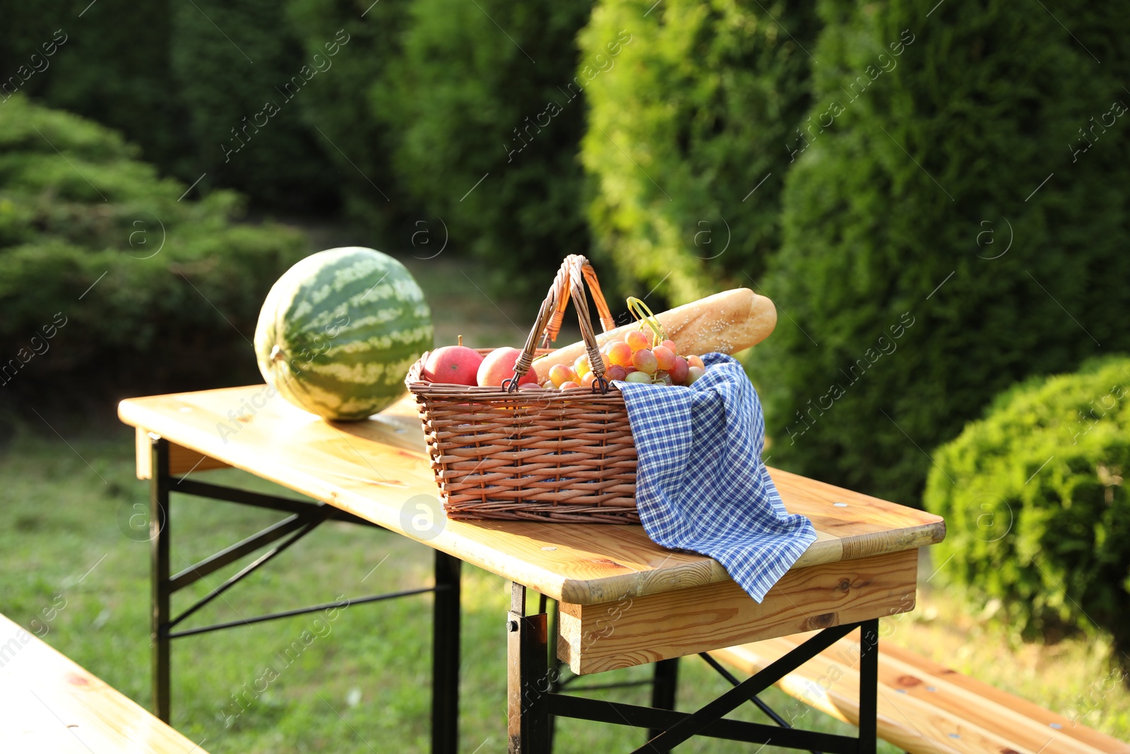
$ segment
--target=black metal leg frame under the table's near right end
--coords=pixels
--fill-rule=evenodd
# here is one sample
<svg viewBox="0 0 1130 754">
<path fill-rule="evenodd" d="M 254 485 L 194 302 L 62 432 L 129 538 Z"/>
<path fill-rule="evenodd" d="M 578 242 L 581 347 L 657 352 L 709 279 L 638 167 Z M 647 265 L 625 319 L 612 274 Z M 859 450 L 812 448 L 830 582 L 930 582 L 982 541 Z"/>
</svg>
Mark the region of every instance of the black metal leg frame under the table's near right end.
<svg viewBox="0 0 1130 754">
<path fill-rule="evenodd" d="M 525 588 L 513 584 L 511 609 L 507 614 L 507 713 L 510 754 L 547 754 L 553 746 L 554 718 L 577 718 L 611 725 L 628 725 L 649 729 L 649 740 L 635 754 L 669 752 L 693 736 L 709 736 L 729 740 L 768 744 L 785 748 L 828 752 L 829 754 L 875 754 L 876 696 L 879 659 L 879 622 L 863 621 L 825 629 L 803 644 L 746 681 L 738 681 L 712 657 L 703 658 L 733 684 L 725 692 L 696 712 L 675 711 L 675 686 L 678 660 L 655 664 L 652 683 L 652 707 L 638 707 L 606 700 L 584 699 L 559 693 L 563 682 L 558 665 L 549 655 L 548 615 L 545 600 L 539 613 L 525 615 Z M 860 642 L 860 726 L 859 737 L 837 736 L 811 730 L 797 730 L 768 708 L 757 694 L 800 667 L 819 652 L 862 627 Z M 609 686 L 574 687 L 606 688 Z M 765 712 L 776 727 L 757 722 L 730 720 L 727 713 L 744 702 L 751 701 Z"/>
</svg>

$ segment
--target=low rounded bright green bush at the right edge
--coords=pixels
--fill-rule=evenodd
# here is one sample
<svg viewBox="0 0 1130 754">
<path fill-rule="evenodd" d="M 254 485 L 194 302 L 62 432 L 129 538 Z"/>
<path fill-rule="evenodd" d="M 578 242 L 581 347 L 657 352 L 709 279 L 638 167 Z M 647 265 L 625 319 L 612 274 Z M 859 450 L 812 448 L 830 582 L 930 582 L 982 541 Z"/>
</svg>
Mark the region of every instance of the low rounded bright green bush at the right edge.
<svg viewBox="0 0 1130 754">
<path fill-rule="evenodd" d="M 1098 627 L 1130 649 L 1130 358 L 1010 390 L 935 460 L 940 578 L 1029 633 Z"/>
</svg>

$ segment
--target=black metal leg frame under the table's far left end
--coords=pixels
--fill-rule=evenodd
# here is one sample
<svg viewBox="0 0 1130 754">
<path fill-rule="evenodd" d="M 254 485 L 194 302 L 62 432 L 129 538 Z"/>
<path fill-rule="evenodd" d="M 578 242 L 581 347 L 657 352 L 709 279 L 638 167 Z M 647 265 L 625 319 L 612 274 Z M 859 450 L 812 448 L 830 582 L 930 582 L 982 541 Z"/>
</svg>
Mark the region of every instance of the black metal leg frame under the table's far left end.
<svg viewBox="0 0 1130 754">
<path fill-rule="evenodd" d="M 304 613 L 314 613 L 344 605 L 375 603 L 395 597 L 408 597 L 426 592 L 435 593 L 432 626 L 432 751 L 435 754 L 454 754 L 458 745 L 459 718 L 459 596 L 460 565 L 457 557 L 446 553 L 435 552 L 435 586 L 406 591 L 373 595 L 370 597 L 347 598 L 342 603 L 312 605 L 281 613 L 259 615 L 241 621 L 216 623 L 197 629 L 174 631 L 185 618 L 231 589 L 241 579 L 252 573 L 268 561 L 273 560 L 290 545 L 310 534 L 323 521 L 349 521 L 363 526 L 373 526 L 371 521 L 336 509 L 331 505 L 304 503 L 286 497 L 272 497 L 259 493 L 223 487 L 173 477 L 168 471 L 168 442 L 160 437 L 153 440 L 153 473 L 149 499 L 149 540 L 150 570 L 153 582 L 153 615 L 150 640 L 153 644 L 153 681 L 154 681 L 154 714 L 169 721 L 169 649 L 173 639 L 191 636 L 220 629 L 231 629 L 262 621 L 285 618 Z M 284 511 L 290 515 L 273 523 L 257 535 L 247 537 L 226 549 L 206 557 L 180 573 L 169 574 L 168 565 L 168 496 L 173 492 L 225 500 L 244 505 L 255 505 L 275 511 Z M 173 617 L 169 610 L 169 598 L 179 591 L 209 573 L 228 565 L 245 555 L 281 540 L 270 551 L 241 569 L 224 583 L 212 589 L 192 607 Z"/>
</svg>

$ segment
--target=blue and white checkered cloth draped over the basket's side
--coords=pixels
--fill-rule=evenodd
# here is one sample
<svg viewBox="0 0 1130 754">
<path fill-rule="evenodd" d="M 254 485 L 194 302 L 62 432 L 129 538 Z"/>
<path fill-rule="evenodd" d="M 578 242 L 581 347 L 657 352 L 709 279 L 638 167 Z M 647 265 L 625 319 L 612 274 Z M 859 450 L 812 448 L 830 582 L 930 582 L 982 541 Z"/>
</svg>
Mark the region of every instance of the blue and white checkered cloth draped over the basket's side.
<svg viewBox="0 0 1130 754">
<path fill-rule="evenodd" d="M 638 452 L 636 506 L 652 541 L 713 557 L 758 603 L 816 541 L 762 462 L 765 419 L 741 365 L 706 354 L 690 388 L 617 381 Z"/>
</svg>

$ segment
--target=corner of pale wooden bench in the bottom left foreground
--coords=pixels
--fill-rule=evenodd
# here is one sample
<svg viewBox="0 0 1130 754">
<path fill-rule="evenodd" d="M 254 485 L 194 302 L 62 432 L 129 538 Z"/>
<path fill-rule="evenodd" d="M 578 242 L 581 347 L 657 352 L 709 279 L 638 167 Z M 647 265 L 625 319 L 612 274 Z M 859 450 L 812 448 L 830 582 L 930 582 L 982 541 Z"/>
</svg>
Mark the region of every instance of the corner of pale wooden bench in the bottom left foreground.
<svg viewBox="0 0 1130 754">
<path fill-rule="evenodd" d="M 0 752 L 207 754 L 3 615 Z"/>
</svg>

